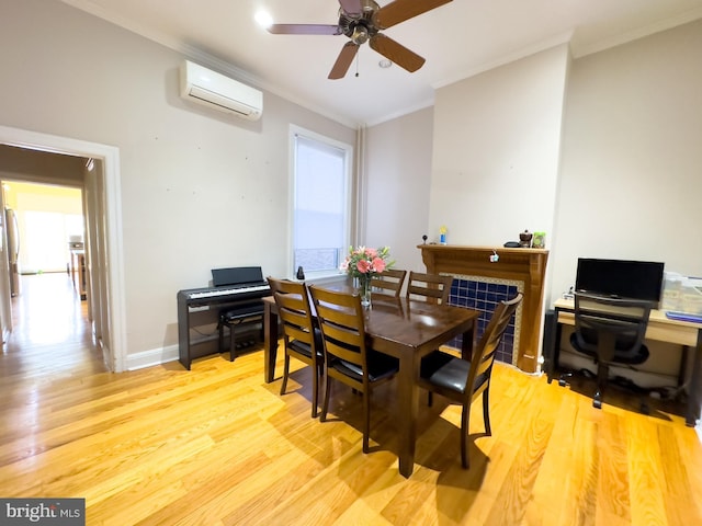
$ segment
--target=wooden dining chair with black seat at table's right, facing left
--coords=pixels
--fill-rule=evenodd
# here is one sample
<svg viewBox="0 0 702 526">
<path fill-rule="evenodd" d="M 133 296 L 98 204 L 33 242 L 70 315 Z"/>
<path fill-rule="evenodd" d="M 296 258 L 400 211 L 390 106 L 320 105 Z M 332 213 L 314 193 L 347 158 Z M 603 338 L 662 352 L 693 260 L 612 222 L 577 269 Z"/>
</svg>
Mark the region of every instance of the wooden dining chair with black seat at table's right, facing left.
<svg viewBox="0 0 702 526">
<path fill-rule="evenodd" d="M 489 390 L 495 353 L 509 325 L 512 315 L 522 300 L 521 293 L 509 301 L 497 305 L 490 321 L 473 352 L 471 361 L 458 358 L 442 351 L 434 351 L 421 361 L 419 386 L 439 393 L 463 405 L 461 413 L 461 464 L 468 469 L 468 426 L 473 401 L 483 396 L 485 433 L 490 436 Z"/>
</svg>

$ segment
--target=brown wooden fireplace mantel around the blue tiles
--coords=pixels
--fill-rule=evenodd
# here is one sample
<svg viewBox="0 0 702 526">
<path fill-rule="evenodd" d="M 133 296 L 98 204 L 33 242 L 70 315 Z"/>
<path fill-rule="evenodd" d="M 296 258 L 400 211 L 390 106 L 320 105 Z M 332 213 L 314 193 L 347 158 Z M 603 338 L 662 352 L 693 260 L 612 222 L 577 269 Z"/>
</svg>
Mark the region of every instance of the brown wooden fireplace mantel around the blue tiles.
<svg viewBox="0 0 702 526">
<path fill-rule="evenodd" d="M 517 366 L 524 371 L 535 373 L 548 251 L 451 244 L 420 244 L 417 248 L 421 250 L 422 261 L 430 274 L 484 276 L 524 283 Z M 494 254 L 499 255 L 495 263 L 490 262 L 490 255 Z"/>
</svg>

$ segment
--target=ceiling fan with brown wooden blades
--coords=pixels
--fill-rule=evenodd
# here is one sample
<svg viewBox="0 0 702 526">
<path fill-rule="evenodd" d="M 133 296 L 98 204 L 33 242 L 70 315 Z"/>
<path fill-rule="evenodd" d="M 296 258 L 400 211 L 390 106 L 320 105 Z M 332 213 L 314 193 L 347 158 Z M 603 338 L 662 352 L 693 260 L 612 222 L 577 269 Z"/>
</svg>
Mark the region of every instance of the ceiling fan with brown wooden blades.
<svg viewBox="0 0 702 526">
<path fill-rule="evenodd" d="M 395 0 L 381 8 L 374 0 L 339 0 L 339 23 L 327 24 L 272 24 L 270 33 L 276 35 L 346 35 L 347 42 L 337 57 L 329 79 L 347 75 L 359 47 L 369 45 L 388 60 L 409 72 L 417 71 L 424 59 L 381 33 L 382 30 L 405 22 L 414 16 L 439 8 L 452 0 Z"/>
</svg>

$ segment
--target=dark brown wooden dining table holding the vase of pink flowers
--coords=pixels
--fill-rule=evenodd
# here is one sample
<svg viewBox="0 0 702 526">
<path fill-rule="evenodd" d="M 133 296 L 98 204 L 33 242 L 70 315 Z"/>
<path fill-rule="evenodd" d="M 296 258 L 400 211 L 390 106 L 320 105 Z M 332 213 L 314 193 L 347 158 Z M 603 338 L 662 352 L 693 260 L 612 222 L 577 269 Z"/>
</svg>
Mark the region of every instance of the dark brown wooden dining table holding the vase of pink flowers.
<svg viewBox="0 0 702 526">
<path fill-rule="evenodd" d="M 272 297 L 263 298 L 264 365 L 267 382 L 273 381 L 278 354 L 278 309 Z M 419 411 L 419 376 L 421 357 L 439 348 L 451 339 L 463 334 L 461 353 L 473 353 L 475 322 L 479 312 L 453 307 L 414 301 L 405 298 L 373 296 L 373 309 L 365 321 L 365 332 L 375 351 L 399 359 L 397 378 L 398 457 L 399 472 L 412 474 L 417 413 Z"/>
</svg>

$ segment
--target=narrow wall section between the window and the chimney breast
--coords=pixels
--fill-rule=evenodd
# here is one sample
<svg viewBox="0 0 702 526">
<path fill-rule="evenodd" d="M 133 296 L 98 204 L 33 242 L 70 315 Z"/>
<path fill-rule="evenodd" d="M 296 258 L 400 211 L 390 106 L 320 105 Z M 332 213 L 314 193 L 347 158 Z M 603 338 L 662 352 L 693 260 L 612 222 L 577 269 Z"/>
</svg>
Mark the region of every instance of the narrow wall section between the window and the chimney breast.
<svg viewBox="0 0 702 526">
<path fill-rule="evenodd" d="M 429 224 L 433 108 L 369 128 L 365 233 L 370 247 L 390 247 L 397 268 L 426 271 L 422 235 Z"/>
</svg>

